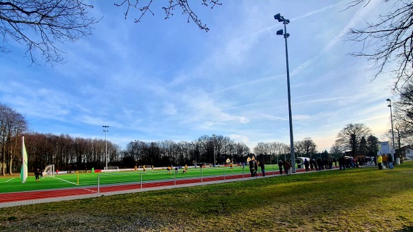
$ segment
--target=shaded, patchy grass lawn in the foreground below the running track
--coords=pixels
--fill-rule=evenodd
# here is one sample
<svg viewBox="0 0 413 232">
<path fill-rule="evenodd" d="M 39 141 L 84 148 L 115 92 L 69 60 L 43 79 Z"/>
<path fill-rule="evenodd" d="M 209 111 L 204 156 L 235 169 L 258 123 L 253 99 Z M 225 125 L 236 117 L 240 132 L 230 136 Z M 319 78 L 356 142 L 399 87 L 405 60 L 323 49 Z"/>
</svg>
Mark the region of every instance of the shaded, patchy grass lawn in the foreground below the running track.
<svg viewBox="0 0 413 232">
<path fill-rule="evenodd" d="M 413 162 L 4 208 L 0 231 L 413 231 Z"/>
</svg>

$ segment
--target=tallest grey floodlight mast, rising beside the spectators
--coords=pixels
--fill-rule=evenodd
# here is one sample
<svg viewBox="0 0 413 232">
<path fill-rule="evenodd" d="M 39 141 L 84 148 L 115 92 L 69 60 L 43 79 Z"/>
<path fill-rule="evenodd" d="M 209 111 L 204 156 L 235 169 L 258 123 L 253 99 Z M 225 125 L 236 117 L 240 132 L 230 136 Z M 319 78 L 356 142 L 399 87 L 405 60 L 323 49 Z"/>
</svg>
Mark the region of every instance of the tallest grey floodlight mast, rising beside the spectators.
<svg viewBox="0 0 413 232">
<path fill-rule="evenodd" d="M 293 166 L 293 173 L 295 173 L 295 154 L 294 154 L 294 136 L 293 136 L 293 115 L 291 114 L 291 94 L 290 94 L 290 70 L 288 68 L 288 46 L 287 38 L 290 34 L 287 33 L 286 25 L 290 23 L 289 19 L 284 19 L 281 14 L 275 14 L 274 19 L 282 22 L 284 24 L 284 34 L 282 30 L 277 31 L 277 35 L 284 35 L 286 41 L 286 65 L 287 65 L 287 89 L 288 89 L 288 118 L 290 123 L 290 154 L 291 154 L 291 165 Z"/>
</svg>

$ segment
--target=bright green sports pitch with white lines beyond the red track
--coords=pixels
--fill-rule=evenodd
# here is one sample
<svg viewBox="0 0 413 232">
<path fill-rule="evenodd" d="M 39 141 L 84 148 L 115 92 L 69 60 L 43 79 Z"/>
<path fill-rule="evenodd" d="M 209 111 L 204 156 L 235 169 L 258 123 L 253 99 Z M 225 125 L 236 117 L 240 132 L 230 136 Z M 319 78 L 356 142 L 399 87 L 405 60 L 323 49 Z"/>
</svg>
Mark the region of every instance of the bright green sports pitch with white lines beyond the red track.
<svg viewBox="0 0 413 232">
<path fill-rule="evenodd" d="M 266 165 L 266 170 L 277 171 L 278 166 Z M 201 171 L 202 170 L 202 171 Z M 203 169 L 188 169 L 187 173 L 182 173 L 183 169 L 179 170 L 179 173 L 175 174 L 175 170 L 147 170 L 146 173 L 142 171 L 122 171 L 122 172 L 109 172 L 109 173 L 70 173 L 55 175 L 55 178 L 45 176 L 40 182 L 36 182 L 34 176 L 29 176 L 24 184 L 21 183 L 19 176 L 12 176 L 6 178 L 0 178 L 0 193 L 10 193 L 16 191 L 33 191 L 44 189 L 62 189 L 68 187 L 91 187 L 97 186 L 98 181 L 100 185 L 104 184 L 126 184 L 131 182 L 157 181 L 157 180 L 173 180 L 174 178 L 200 178 L 208 176 L 224 176 L 243 173 L 245 176 L 250 175 L 249 169 L 246 167 L 234 167 L 233 171 L 229 167 L 215 167 L 215 168 L 203 168 Z"/>
</svg>

